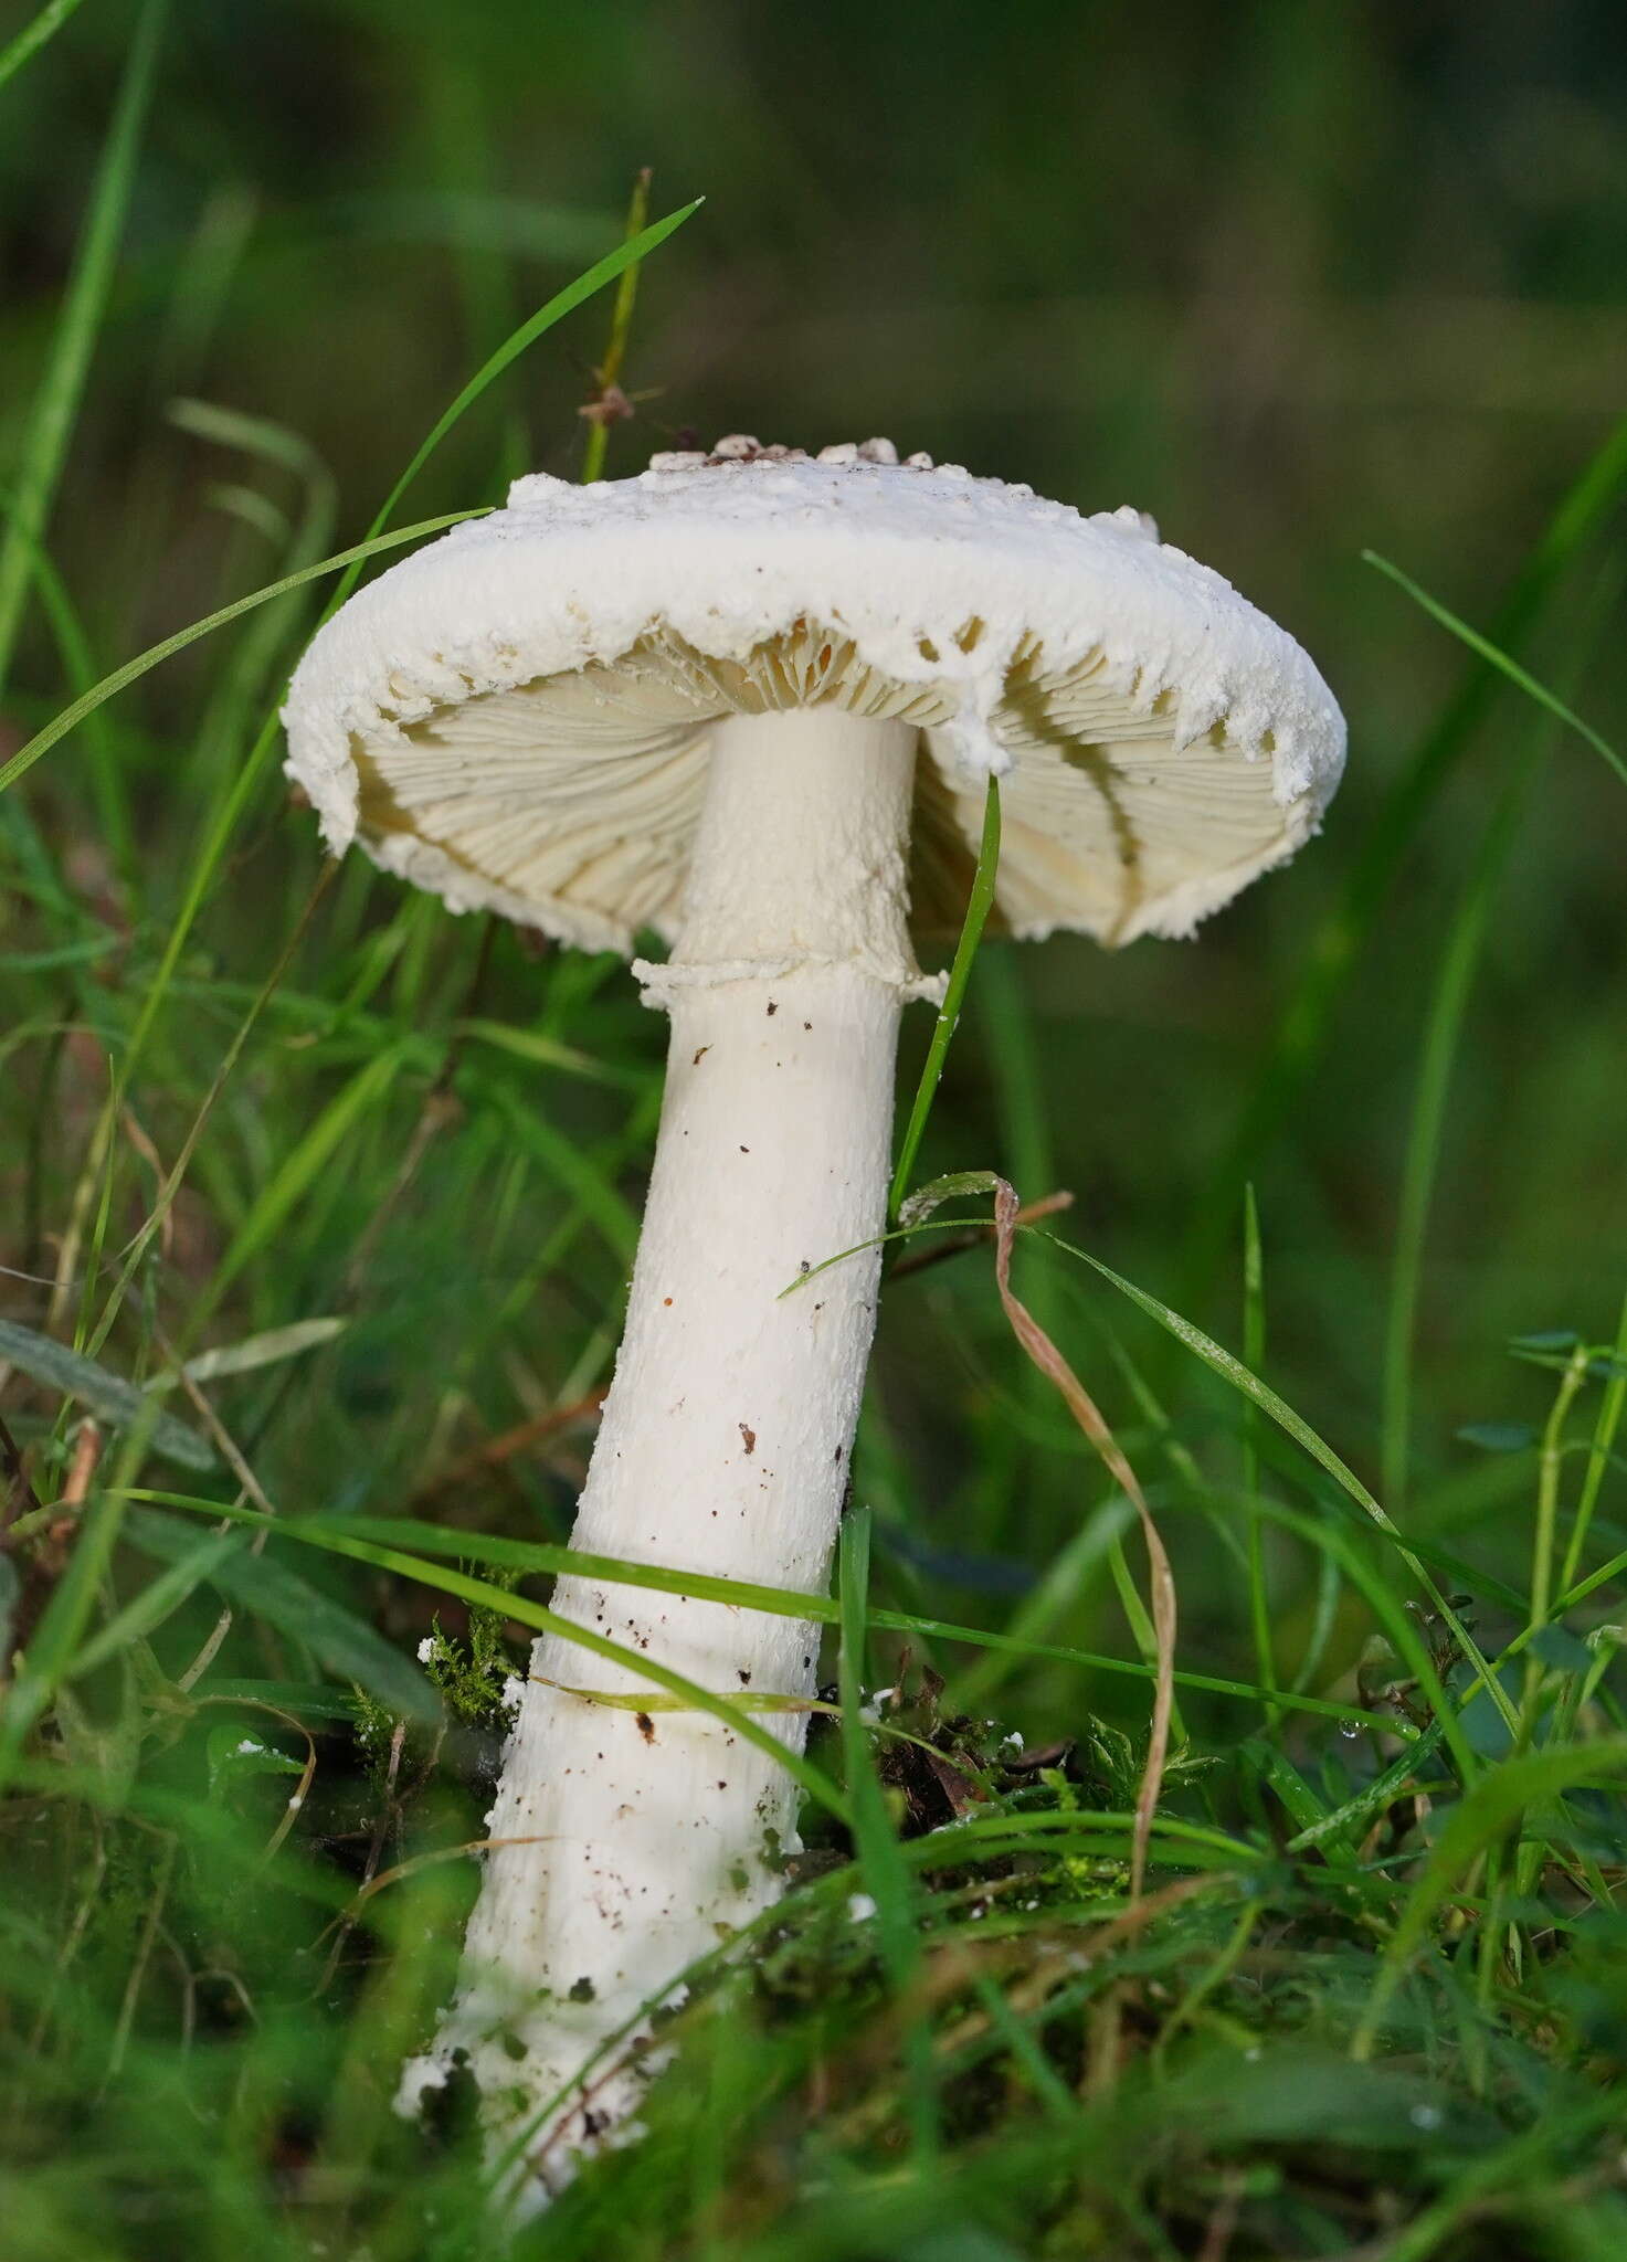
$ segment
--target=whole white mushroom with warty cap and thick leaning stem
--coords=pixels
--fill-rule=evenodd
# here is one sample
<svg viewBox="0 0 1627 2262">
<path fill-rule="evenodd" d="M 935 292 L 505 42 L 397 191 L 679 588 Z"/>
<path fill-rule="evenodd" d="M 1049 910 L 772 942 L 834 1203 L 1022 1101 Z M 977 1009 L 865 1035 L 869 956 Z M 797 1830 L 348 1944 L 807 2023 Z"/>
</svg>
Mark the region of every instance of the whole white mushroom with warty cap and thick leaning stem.
<svg viewBox="0 0 1627 2262">
<path fill-rule="evenodd" d="M 335 851 L 566 943 L 670 943 L 634 968 L 670 1070 L 575 1545 L 794 1588 L 826 1577 L 878 1260 L 781 1289 L 883 1226 L 898 1013 L 935 993 L 910 914 L 957 923 L 987 776 L 996 927 L 1122 943 L 1292 855 L 1344 756 L 1303 651 L 1150 520 L 887 441 L 520 480 L 344 606 L 285 719 Z M 554 1608 L 720 1694 L 815 1687 L 812 1626 L 579 1579 Z M 407 2083 L 466 2054 L 500 2138 L 797 1844 L 794 1785 L 724 1721 L 577 1690 L 649 1692 L 536 1644 L 462 1988 Z M 758 1717 L 801 1744 L 801 1715 Z M 638 2079 L 532 2131 L 534 2187 Z"/>
</svg>

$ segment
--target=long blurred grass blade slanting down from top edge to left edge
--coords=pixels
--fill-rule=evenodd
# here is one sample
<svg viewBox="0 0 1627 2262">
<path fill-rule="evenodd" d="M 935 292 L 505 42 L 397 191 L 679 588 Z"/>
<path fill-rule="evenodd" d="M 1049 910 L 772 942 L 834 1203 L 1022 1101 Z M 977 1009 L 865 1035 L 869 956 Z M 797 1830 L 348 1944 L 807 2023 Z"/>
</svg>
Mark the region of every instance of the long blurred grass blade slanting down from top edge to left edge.
<svg viewBox="0 0 1627 2262">
<path fill-rule="evenodd" d="M 113 104 L 113 120 L 91 185 L 91 208 L 75 251 L 61 319 L 57 321 L 50 360 L 38 380 L 27 425 L 23 428 L 23 448 L 14 473 L 16 502 L 9 529 L 0 541 L 0 685 L 11 674 L 16 633 L 23 622 L 23 604 L 34 570 L 29 543 L 45 538 L 45 520 L 50 518 L 57 482 L 68 457 L 68 441 L 79 416 L 91 353 L 95 351 L 97 330 L 106 312 L 165 16 L 167 0 L 145 0 L 136 18 L 136 36 L 131 38 L 118 102 Z M 38 18 L 29 32 L 34 29 L 38 29 Z M 50 36 L 52 29 L 54 25 L 48 25 L 41 38 Z M 25 32 L 23 38 L 27 36 Z M 14 41 L 0 54 L 0 75 L 5 77 L 9 77 L 5 63 L 11 59 L 16 45 Z M 16 68 L 18 63 L 11 63 L 11 70 Z"/>
</svg>

